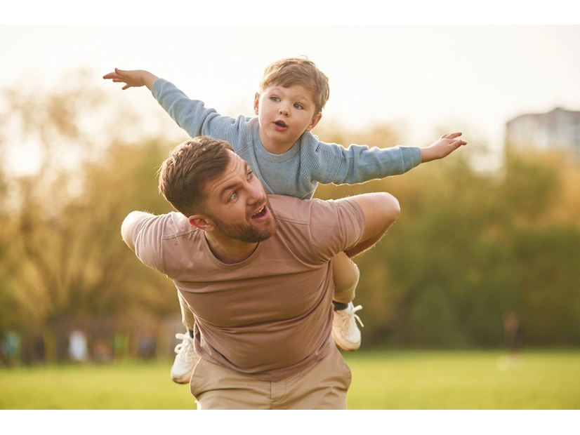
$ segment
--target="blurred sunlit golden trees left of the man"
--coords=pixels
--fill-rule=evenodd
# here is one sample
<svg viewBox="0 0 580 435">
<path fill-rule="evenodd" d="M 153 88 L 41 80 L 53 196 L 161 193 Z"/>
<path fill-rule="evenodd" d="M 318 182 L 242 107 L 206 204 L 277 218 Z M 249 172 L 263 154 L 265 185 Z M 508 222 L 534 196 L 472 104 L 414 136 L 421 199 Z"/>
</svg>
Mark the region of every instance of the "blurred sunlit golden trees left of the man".
<svg viewBox="0 0 580 435">
<path fill-rule="evenodd" d="M 171 289 L 169 281 L 138 270 L 120 237 L 129 210 L 167 210 L 157 194 L 155 170 L 163 149 L 174 144 L 115 138 L 120 131 L 115 126 L 134 115 L 116 112 L 84 81 L 81 74 L 65 89 L 4 91 L 1 122 L 10 137 L 2 143 L 30 142 L 41 154 L 36 171 L 11 179 L 5 210 L 13 225 L 4 229 L 12 232 L 2 232 L 16 243 L 8 245 L 14 269 L 3 280 L 0 299 L 3 307 L 19 308 L 20 326 L 28 330 L 50 328 L 61 319 L 163 314 L 178 307 L 174 290 L 171 297 L 159 290 Z"/>
</svg>

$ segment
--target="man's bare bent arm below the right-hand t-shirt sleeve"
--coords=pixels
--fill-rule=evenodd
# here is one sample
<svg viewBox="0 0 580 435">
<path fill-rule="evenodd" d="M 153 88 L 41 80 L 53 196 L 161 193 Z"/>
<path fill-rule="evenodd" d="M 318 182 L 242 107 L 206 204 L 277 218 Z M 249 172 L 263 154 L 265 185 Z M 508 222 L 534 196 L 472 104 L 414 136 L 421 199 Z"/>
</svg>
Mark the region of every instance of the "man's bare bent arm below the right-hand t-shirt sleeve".
<svg viewBox="0 0 580 435">
<path fill-rule="evenodd" d="M 386 192 L 375 192 L 351 196 L 362 209 L 364 232 L 360 242 L 345 250 L 346 255 L 354 257 L 372 248 L 385 235 L 401 214 L 399 201 Z"/>
</svg>

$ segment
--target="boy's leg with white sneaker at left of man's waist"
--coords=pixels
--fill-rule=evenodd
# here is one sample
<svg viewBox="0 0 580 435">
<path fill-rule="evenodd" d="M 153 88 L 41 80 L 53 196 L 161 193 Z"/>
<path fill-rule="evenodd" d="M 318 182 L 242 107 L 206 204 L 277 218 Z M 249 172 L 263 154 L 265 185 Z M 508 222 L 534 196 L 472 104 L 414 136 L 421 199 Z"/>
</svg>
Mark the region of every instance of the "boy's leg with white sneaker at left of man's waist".
<svg viewBox="0 0 580 435">
<path fill-rule="evenodd" d="M 186 328 L 186 332 L 185 334 L 176 334 L 176 338 L 182 341 L 175 348 L 177 355 L 175 361 L 173 361 L 173 366 L 171 366 L 171 379 L 178 384 L 187 384 L 190 382 L 195 362 L 197 361 L 193 347 L 195 317 L 179 291 L 177 292 L 177 297 L 181 309 L 181 321 Z"/>
</svg>

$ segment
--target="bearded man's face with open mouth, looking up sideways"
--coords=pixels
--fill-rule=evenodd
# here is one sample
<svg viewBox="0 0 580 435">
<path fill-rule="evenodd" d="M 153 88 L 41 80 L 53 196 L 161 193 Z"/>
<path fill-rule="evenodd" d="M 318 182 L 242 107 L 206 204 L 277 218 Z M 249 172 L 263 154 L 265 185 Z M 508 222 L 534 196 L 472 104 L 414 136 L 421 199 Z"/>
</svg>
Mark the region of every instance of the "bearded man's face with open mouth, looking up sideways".
<svg viewBox="0 0 580 435">
<path fill-rule="evenodd" d="M 262 183 L 234 152 L 224 173 L 206 184 L 207 221 L 223 236 L 257 243 L 276 232 L 276 222 Z"/>
</svg>

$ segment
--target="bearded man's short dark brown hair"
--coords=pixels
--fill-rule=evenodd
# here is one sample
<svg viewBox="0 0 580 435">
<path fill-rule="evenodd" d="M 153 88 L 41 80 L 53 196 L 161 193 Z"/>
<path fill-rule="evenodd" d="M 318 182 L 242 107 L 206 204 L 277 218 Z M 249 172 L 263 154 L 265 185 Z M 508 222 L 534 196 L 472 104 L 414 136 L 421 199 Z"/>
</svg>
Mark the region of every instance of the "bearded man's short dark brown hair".
<svg viewBox="0 0 580 435">
<path fill-rule="evenodd" d="M 159 192 L 187 217 L 204 213 L 204 187 L 224 173 L 230 151 L 228 142 L 206 136 L 180 143 L 159 168 Z"/>
</svg>

